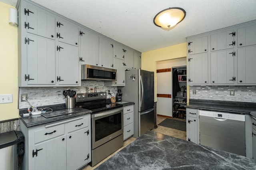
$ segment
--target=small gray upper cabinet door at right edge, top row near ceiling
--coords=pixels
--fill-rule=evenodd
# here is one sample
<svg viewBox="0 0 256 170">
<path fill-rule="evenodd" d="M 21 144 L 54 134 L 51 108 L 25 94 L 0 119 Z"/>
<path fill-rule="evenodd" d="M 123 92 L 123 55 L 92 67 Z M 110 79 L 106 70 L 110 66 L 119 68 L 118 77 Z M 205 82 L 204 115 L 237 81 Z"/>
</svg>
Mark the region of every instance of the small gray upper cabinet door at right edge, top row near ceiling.
<svg viewBox="0 0 256 170">
<path fill-rule="evenodd" d="M 237 29 L 237 46 L 244 47 L 256 44 L 256 25 Z"/>
</svg>

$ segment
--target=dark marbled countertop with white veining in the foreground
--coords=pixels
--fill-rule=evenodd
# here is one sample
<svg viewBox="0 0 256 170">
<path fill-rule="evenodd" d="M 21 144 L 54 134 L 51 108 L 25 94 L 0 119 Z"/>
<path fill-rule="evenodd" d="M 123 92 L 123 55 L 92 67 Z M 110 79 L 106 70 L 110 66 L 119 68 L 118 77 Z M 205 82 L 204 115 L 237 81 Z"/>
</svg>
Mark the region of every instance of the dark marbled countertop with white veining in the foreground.
<svg viewBox="0 0 256 170">
<path fill-rule="evenodd" d="M 95 170 L 255 170 L 256 160 L 148 131 Z"/>
</svg>

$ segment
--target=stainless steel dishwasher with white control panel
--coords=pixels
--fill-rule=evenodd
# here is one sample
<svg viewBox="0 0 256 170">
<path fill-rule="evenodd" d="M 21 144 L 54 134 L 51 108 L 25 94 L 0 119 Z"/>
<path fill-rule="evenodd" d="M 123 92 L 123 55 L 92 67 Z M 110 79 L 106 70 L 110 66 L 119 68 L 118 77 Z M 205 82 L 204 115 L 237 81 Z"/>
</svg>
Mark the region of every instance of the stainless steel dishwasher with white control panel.
<svg viewBox="0 0 256 170">
<path fill-rule="evenodd" d="M 245 156 L 245 115 L 199 111 L 200 144 Z"/>
</svg>

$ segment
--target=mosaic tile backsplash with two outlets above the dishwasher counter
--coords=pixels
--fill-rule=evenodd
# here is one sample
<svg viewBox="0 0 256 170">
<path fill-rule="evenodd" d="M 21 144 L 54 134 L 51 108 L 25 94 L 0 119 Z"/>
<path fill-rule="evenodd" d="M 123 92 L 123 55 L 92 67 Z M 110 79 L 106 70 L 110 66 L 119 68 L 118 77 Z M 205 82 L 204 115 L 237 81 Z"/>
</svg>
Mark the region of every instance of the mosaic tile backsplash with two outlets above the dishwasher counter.
<svg viewBox="0 0 256 170">
<path fill-rule="evenodd" d="M 235 91 L 234 96 L 230 90 Z M 190 99 L 256 103 L 256 86 L 190 86 Z"/>
</svg>

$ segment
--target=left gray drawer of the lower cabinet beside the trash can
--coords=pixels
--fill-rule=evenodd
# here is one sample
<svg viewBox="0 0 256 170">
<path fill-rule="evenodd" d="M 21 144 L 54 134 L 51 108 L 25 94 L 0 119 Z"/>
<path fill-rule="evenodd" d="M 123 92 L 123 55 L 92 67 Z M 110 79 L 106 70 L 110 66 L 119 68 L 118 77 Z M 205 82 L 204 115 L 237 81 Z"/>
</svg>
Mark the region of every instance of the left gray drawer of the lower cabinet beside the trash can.
<svg viewBox="0 0 256 170">
<path fill-rule="evenodd" d="M 56 136 L 60 136 L 62 134 L 64 134 L 64 124 L 35 131 L 34 141 L 35 143 L 38 143 L 44 140 L 54 138 Z"/>
</svg>

